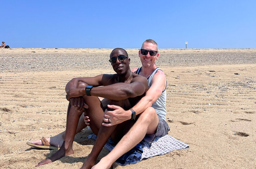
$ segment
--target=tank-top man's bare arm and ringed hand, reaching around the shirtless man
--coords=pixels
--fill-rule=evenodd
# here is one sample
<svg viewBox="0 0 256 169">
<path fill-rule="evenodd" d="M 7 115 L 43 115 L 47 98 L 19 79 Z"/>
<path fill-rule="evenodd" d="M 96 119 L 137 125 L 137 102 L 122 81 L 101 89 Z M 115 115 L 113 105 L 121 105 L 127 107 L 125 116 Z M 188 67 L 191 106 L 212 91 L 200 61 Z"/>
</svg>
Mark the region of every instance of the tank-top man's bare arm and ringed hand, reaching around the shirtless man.
<svg viewBox="0 0 256 169">
<path fill-rule="evenodd" d="M 162 91 L 165 89 L 166 79 L 162 71 L 157 71 L 151 80 L 151 87 L 147 91 L 146 95 L 136 104 L 132 109 L 136 112 L 136 115 L 142 113 L 150 107 L 161 95 Z M 130 110 L 125 111 L 122 107 L 116 105 L 108 105 L 109 108 L 115 109 L 114 111 L 105 111 L 105 122 L 110 118 L 111 123 L 103 124 L 104 126 L 113 126 L 122 123 L 126 120 L 131 119 L 132 112 Z"/>
</svg>

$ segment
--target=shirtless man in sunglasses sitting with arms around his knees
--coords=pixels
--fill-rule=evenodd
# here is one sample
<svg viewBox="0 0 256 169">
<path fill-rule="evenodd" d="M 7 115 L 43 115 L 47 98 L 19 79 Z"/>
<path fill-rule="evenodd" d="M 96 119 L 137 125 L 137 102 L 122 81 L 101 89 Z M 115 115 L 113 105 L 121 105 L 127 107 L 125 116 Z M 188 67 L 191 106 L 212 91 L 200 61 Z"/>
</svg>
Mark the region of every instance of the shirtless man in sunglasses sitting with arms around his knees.
<svg viewBox="0 0 256 169">
<path fill-rule="evenodd" d="M 62 146 L 49 159 L 45 159 L 36 166 L 54 162 L 66 155 L 73 154 L 73 140 L 83 109 L 76 109 L 75 104 L 85 103 L 86 115 L 90 117 L 90 127 L 98 137 L 92 153 L 88 155 L 83 167 L 91 168 L 102 150 L 103 146 L 111 136 L 116 143 L 128 132 L 134 124 L 132 116 L 129 120 L 120 125 L 106 127 L 102 124 L 104 107 L 98 97 L 109 99 L 109 104 L 119 105 L 129 110 L 135 105 L 148 90 L 147 79 L 143 76 L 132 73 L 130 70 L 130 58 L 124 49 L 116 48 L 110 54 L 111 65 L 117 74 L 98 75 L 92 78 L 73 78 L 66 85 L 67 100 L 70 101 L 67 113 L 66 134 Z M 133 116 L 133 119 L 135 115 Z M 106 122 L 111 122 L 107 119 Z M 150 128 L 150 127 L 149 127 Z M 150 128 L 151 129 L 151 128 Z M 152 129 L 151 129 L 152 130 Z M 149 133 L 154 132 L 149 131 Z"/>
</svg>

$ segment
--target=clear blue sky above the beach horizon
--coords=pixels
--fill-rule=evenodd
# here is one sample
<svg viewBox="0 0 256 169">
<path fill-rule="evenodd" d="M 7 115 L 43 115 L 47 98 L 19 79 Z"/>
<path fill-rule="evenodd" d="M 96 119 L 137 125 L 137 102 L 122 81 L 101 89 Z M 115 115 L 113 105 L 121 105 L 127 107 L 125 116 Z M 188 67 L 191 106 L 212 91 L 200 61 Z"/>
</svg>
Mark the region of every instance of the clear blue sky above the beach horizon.
<svg viewBox="0 0 256 169">
<path fill-rule="evenodd" d="M 12 48 L 256 48 L 256 1 L 5 1 Z M 4 16 L 4 17 L 3 17 Z"/>
</svg>

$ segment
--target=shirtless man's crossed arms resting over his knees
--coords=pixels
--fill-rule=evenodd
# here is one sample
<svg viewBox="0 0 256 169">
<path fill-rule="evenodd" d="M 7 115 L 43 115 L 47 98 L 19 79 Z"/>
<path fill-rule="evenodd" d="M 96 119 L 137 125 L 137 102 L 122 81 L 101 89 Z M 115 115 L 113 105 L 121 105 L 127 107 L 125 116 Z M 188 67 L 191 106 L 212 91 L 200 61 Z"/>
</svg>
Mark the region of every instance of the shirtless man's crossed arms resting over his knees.
<svg viewBox="0 0 256 169">
<path fill-rule="evenodd" d="M 86 86 L 94 86 L 90 92 L 91 95 L 116 101 L 140 96 L 148 89 L 147 79 L 137 75 L 135 75 L 130 83 L 116 83 L 115 75 L 107 74 L 98 75 L 92 78 L 73 78 L 68 82 L 65 88 L 67 100 L 71 102 L 71 105 L 71 98 L 86 95 L 85 88 L 77 88 L 79 82 L 85 83 Z M 73 102 L 73 105 L 75 104 L 76 101 Z"/>
</svg>

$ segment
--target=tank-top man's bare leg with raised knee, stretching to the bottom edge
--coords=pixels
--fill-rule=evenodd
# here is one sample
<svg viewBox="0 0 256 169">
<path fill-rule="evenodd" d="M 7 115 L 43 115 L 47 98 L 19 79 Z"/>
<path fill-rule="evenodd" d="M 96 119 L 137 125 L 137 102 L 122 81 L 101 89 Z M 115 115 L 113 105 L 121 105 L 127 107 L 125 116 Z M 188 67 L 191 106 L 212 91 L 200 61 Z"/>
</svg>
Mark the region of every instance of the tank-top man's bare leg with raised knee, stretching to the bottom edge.
<svg viewBox="0 0 256 169">
<path fill-rule="evenodd" d="M 150 117 L 150 118 L 149 118 Z M 158 126 L 158 116 L 152 107 L 141 113 L 127 134 L 118 142 L 109 154 L 103 157 L 92 169 L 109 169 L 120 156 L 136 146 L 146 134 L 154 134 Z"/>
</svg>

